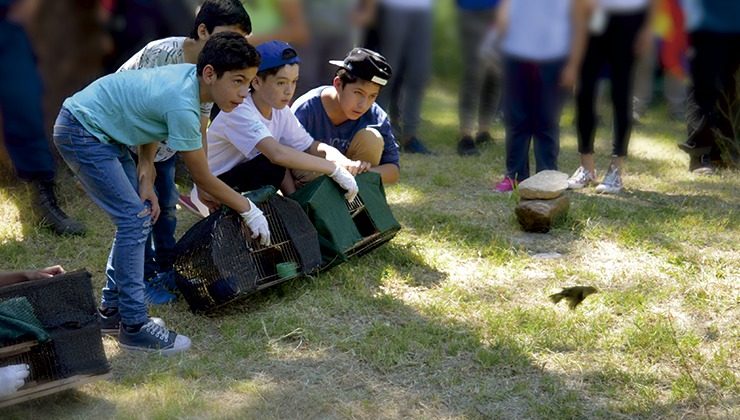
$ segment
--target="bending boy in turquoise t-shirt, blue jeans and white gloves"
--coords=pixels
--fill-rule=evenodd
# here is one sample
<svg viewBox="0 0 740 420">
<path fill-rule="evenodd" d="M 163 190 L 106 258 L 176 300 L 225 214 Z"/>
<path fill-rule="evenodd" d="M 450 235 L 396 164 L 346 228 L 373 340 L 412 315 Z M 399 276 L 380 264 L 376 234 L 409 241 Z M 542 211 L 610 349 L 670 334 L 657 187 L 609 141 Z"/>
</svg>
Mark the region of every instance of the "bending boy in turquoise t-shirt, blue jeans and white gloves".
<svg viewBox="0 0 740 420">
<path fill-rule="evenodd" d="M 200 104 L 214 102 L 224 112 L 236 108 L 259 61 L 243 35 L 222 32 L 206 42 L 197 67 L 177 64 L 111 74 L 64 101 L 54 143 L 116 225 L 99 311 L 106 323 L 120 320 L 122 348 L 168 355 L 190 347 L 190 339 L 150 319 L 144 301 L 144 248 L 159 216 L 154 192 L 159 140 L 168 139 L 169 147 L 180 152 L 200 188 L 238 211 L 254 238 L 270 243 L 262 212 L 209 171 L 200 134 Z M 139 147 L 138 165 L 128 146 Z"/>
</svg>

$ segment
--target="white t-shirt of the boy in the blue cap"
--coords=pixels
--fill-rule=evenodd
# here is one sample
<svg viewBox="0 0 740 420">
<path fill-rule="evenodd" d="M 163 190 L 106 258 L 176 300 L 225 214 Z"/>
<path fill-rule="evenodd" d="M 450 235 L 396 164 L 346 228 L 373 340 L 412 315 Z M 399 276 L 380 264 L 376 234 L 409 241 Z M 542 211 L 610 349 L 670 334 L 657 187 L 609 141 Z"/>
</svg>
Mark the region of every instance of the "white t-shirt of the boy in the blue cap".
<svg viewBox="0 0 740 420">
<path fill-rule="evenodd" d="M 272 118 L 262 116 L 252 95 L 231 112 L 221 112 L 208 127 L 208 166 L 218 176 L 260 154 L 257 143 L 273 137 L 280 144 L 304 151 L 313 138 L 289 107 L 273 109 Z"/>
</svg>

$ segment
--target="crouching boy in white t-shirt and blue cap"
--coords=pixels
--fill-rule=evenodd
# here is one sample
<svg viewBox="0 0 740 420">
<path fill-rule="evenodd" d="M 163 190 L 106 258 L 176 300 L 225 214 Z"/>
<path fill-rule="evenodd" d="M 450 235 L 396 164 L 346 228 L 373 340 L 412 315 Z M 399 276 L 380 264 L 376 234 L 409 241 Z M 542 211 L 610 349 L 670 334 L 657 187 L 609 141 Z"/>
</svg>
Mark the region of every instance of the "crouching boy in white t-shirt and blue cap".
<svg viewBox="0 0 740 420">
<path fill-rule="evenodd" d="M 219 114 L 208 128 L 211 172 L 236 191 L 273 185 L 284 194 L 295 191 L 290 171 L 330 176 L 357 194 L 354 176 L 367 171 L 367 162 L 352 161 L 325 143 L 315 141 L 290 110 L 298 82 L 300 58 L 286 42 L 269 41 L 256 47 L 262 57 L 249 96 L 233 112 Z M 198 200 L 193 200 L 207 214 Z"/>
</svg>

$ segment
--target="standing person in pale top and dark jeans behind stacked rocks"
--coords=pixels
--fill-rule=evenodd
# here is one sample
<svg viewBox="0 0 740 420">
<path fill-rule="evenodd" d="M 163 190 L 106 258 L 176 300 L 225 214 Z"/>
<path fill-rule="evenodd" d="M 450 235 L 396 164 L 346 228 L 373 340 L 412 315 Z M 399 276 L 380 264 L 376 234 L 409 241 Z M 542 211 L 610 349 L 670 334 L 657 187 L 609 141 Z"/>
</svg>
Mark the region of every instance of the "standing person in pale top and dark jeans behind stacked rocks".
<svg viewBox="0 0 740 420">
<path fill-rule="evenodd" d="M 532 140 L 537 172 L 557 169 L 563 95 L 578 77 L 589 11 L 588 0 L 503 0 L 499 5 L 506 174 L 496 192 L 510 192 L 529 178 Z"/>
</svg>

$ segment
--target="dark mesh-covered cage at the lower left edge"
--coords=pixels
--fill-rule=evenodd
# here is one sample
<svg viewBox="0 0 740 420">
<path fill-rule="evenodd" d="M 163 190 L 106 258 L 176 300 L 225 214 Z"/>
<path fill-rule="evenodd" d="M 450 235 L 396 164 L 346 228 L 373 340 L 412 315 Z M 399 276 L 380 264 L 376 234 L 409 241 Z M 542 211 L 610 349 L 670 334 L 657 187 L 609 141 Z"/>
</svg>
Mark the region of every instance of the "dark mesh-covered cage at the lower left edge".
<svg viewBox="0 0 740 420">
<path fill-rule="evenodd" d="M 0 344 L 0 366 L 31 367 L 26 384 L 15 394 L 0 397 L 0 407 L 109 376 L 90 277 L 79 270 L 0 288 L 2 313 L 31 320 L 15 324 L 6 317 L 0 324 L 5 336 L 17 334 Z"/>
</svg>

